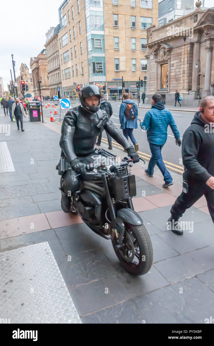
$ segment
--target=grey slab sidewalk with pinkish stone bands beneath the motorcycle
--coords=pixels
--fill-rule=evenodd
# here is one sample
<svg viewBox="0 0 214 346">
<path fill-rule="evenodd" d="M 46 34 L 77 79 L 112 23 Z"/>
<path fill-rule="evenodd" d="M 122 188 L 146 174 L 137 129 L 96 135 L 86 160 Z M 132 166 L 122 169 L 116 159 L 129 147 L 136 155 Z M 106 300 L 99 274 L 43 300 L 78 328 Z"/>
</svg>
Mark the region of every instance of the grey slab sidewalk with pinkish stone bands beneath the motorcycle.
<svg viewBox="0 0 214 346">
<path fill-rule="evenodd" d="M 0 115 L 0 124 L 8 118 Z M 194 231 L 177 236 L 166 230 L 166 221 L 182 191 L 182 176 L 171 172 L 174 185 L 163 189 L 157 168 L 150 178 L 144 172 L 147 162 L 133 165 L 133 204 L 154 251 L 150 272 L 133 277 L 121 267 L 110 241 L 61 210 L 55 170 L 61 126 L 44 121 L 26 117 L 24 133 L 13 123 L 9 136 L 0 133 L 15 170 L 0 174 L 0 315 L 16 323 L 18 309 L 21 323 L 103 324 L 204 323 L 213 316 L 214 232 L 205 198 L 181 218 L 193 221 Z M 108 145 L 102 142 L 102 147 Z M 115 147 L 112 153 L 125 155 Z M 35 314 L 37 300 L 29 288 L 40 297 L 41 311 Z"/>
</svg>

